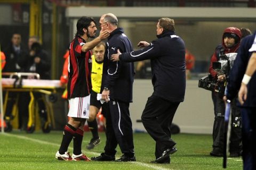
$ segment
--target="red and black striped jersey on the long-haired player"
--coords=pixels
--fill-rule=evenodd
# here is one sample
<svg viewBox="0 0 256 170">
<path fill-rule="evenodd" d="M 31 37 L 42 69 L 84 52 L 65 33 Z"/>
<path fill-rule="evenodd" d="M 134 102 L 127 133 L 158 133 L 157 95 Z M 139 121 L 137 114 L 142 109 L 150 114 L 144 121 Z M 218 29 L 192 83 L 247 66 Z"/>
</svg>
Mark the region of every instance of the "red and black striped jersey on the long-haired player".
<svg viewBox="0 0 256 170">
<path fill-rule="evenodd" d="M 85 97 L 90 95 L 92 52 L 82 52 L 86 41 L 76 36 L 69 47 L 68 64 L 68 98 Z"/>
</svg>

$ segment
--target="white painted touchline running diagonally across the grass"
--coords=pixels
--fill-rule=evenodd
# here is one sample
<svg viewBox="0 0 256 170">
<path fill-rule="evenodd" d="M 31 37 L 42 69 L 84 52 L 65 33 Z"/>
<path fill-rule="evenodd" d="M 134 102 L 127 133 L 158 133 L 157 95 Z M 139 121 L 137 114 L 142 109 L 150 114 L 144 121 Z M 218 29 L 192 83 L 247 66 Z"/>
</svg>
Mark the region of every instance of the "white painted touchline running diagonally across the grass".
<svg viewBox="0 0 256 170">
<path fill-rule="evenodd" d="M 17 135 L 17 134 L 10 134 L 10 133 L 2 133 L 3 135 L 7 135 L 7 136 L 11 136 L 11 137 L 15 137 L 15 138 L 19 138 L 19 139 L 24 139 L 24 140 L 29 140 L 29 141 L 33 141 L 33 142 L 37 142 L 43 145 L 51 145 L 51 146 L 57 146 L 59 147 L 60 144 L 57 143 L 51 143 L 51 142 L 46 142 L 46 141 L 42 141 L 42 140 L 38 140 L 38 139 L 33 139 L 33 138 L 28 138 L 28 137 L 23 137 L 21 135 Z M 69 149 L 73 149 L 72 147 L 69 147 Z M 83 150 L 85 151 L 85 150 Z M 92 154 L 92 155 L 99 155 L 98 152 L 92 152 L 92 151 L 85 151 L 88 154 Z M 156 169 L 156 170 L 173 170 L 173 169 L 167 169 L 167 168 L 163 168 L 163 167 L 158 167 L 158 166 L 154 166 L 151 164 L 146 164 L 146 163 L 141 163 L 141 162 L 127 162 L 127 163 L 132 163 L 132 164 L 136 164 L 136 165 L 140 165 L 140 166 L 144 166 L 144 167 L 149 167 L 152 169 Z"/>
</svg>

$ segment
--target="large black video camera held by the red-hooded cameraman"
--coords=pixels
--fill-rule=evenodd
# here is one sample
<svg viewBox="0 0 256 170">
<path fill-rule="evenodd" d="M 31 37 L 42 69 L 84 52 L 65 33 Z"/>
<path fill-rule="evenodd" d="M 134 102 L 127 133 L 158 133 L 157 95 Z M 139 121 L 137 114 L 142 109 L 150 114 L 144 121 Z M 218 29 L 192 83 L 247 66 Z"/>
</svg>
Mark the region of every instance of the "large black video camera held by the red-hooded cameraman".
<svg viewBox="0 0 256 170">
<path fill-rule="evenodd" d="M 228 53 L 219 56 L 218 62 L 213 62 L 212 67 L 217 72 L 218 75 L 225 74 L 228 79 L 229 72 L 234 64 L 237 53 Z M 224 94 L 226 82 L 220 82 L 218 80 L 214 80 L 211 77 L 211 74 L 205 75 L 204 77 L 199 79 L 198 87 L 203 88 L 210 91 L 215 91 Z"/>
</svg>

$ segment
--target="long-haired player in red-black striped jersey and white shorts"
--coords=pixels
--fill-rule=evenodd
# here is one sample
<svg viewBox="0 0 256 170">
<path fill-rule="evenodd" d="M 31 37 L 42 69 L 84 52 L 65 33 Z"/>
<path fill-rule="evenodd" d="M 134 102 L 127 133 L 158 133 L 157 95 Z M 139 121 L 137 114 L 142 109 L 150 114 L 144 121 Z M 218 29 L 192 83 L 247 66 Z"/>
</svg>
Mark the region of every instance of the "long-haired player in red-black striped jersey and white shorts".
<svg viewBox="0 0 256 170">
<path fill-rule="evenodd" d="M 109 31 L 100 31 L 99 37 L 94 38 L 97 31 L 95 21 L 83 16 L 77 21 L 77 33 L 69 47 L 68 69 L 68 99 L 71 117 L 63 131 L 60 149 L 55 158 L 59 160 L 84 160 L 89 161 L 82 153 L 83 127 L 86 118 L 89 118 L 90 89 L 91 89 L 91 49 L 101 40 L 109 36 Z M 68 146 L 73 140 L 74 150 L 70 156 Z"/>
</svg>

